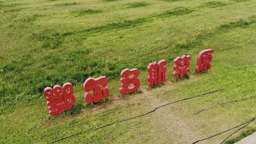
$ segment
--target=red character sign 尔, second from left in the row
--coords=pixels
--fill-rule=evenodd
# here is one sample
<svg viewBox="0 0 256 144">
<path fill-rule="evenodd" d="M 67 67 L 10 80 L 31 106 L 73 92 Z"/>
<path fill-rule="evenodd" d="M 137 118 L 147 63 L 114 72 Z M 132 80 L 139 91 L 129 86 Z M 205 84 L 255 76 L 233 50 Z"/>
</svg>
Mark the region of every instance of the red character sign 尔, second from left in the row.
<svg viewBox="0 0 256 144">
<path fill-rule="evenodd" d="M 99 85 L 101 85 L 103 89 L 101 89 Z M 90 105 L 92 101 L 98 103 L 102 100 L 102 95 L 105 97 L 105 101 L 107 101 L 107 98 L 109 97 L 109 90 L 106 87 L 107 85 L 108 79 L 105 76 L 98 77 L 97 79 L 91 77 L 86 79 L 84 82 L 84 91 L 86 91 L 84 99 L 86 103 L 89 103 Z M 93 91 L 93 96 L 90 91 Z"/>
</svg>

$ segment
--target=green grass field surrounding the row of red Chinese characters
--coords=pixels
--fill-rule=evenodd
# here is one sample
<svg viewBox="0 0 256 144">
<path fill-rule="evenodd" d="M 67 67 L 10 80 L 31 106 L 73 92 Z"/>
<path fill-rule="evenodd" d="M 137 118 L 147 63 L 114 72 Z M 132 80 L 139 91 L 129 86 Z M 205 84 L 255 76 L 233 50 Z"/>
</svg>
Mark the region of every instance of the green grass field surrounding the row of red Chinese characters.
<svg viewBox="0 0 256 144">
<path fill-rule="evenodd" d="M 256 0 L 1 0 L 0 143 L 193 143 L 255 117 Z M 212 68 L 196 57 L 214 49 Z M 191 72 L 175 80 L 177 56 Z M 166 83 L 147 86 L 148 63 L 165 59 Z M 140 69 L 140 91 L 120 95 L 120 72 Z M 105 75 L 110 98 L 89 107 L 83 82 Z M 45 87 L 74 85 L 73 110 L 48 114 Z M 237 128 L 236 128 L 237 129 Z M 202 141 L 219 144 L 236 129 Z M 244 132 L 243 132 L 244 131 Z M 227 143 L 256 131 L 252 122 Z"/>
</svg>

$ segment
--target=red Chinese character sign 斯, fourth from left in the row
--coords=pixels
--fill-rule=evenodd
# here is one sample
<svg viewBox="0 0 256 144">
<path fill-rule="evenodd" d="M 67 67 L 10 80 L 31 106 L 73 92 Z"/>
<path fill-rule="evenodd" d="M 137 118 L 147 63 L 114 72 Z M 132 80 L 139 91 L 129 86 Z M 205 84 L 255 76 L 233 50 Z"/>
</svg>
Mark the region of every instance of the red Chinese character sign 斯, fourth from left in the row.
<svg viewBox="0 0 256 144">
<path fill-rule="evenodd" d="M 152 87 L 153 85 L 165 82 L 165 73 L 167 64 L 166 60 L 160 60 L 158 63 L 148 64 L 148 85 Z"/>
</svg>

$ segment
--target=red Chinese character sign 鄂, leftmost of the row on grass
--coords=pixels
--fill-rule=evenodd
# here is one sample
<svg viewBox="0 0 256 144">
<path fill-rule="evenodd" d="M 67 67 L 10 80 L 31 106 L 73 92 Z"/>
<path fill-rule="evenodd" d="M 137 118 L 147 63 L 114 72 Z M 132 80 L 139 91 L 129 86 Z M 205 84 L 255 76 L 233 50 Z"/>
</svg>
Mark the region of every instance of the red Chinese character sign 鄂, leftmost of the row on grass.
<svg viewBox="0 0 256 144">
<path fill-rule="evenodd" d="M 73 91 L 74 87 L 71 83 L 64 83 L 63 94 L 60 85 L 55 85 L 53 89 L 46 87 L 44 89 L 44 95 L 46 96 L 49 114 L 59 114 L 65 110 L 65 106 L 68 110 L 72 109 L 72 105 L 76 102 Z"/>
</svg>

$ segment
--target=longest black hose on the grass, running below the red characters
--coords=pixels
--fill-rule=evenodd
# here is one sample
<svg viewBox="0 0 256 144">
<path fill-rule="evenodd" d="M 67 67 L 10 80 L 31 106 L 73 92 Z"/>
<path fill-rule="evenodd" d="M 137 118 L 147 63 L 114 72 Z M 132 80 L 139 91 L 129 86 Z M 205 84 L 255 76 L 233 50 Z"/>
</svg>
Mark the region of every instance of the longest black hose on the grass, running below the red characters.
<svg viewBox="0 0 256 144">
<path fill-rule="evenodd" d="M 160 106 L 160 107 L 157 107 L 157 108 L 155 108 L 154 110 L 152 110 L 152 111 L 150 111 L 150 112 L 147 112 L 147 113 L 145 113 L 145 114 L 138 115 L 138 116 L 135 116 L 135 117 L 132 117 L 132 118 L 124 119 L 124 120 L 119 120 L 119 121 L 113 122 L 113 123 L 111 123 L 111 124 L 107 124 L 107 125 L 105 125 L 105 126 L 100 126 L 100 127 L 98 127 L 98 128 L 91 128 L 90 130 L 86 130 L 86 131 L 84 131 L 84 132 L 79 132 L 79 133 L 77 133 L 77 134 L 73 134 L 73 135 L 67 136 L 67 137 L 65 137 L 65 138 L 56 140 L 56 141 L 54 141 L 54 142 L 50 142 L 49 144 L 53 144 L 53 143 L 59 142 L 59 141 L 61 141 L 61 140 L 65 140 L 65 139 L 70 138 L 70 137 L 72 137 L 72 136 L 77 136 L 77 135 L 79 135 L 79 134 L 83 134 L 83 133 L 86 133 L 86 132 L 90 132 L 90 131 L 92 131 L 92 130 L 98 130 L 98 129 L 100 129 L 100 128 L 104 128 L 104 127 L 107 127 L 107 126 L 111 126 L 111 125 L 116 124 L 116 123 L 119 123 L 119 122 L 123 122 L 123 121 L 130 120 L 130 119 L 133 119 L 133 118 L 138 118 L 138 117 L 144 116 L 144 115 L 146 115 L 146 114 L 150 114 L 150 113 L 154 112 L 154 111 L 155 111 L 156 109 L 158 109 L 158 108 L 165 107 L 165 106 L 170 105 L 170 104 L 178 103 L 178 102 L 180 102 L 180 101 L 184 101 L 184 100 L 188 100 L 188 99 L 193 99 L 193 98 L 196 98 L 196 97 L 201 97 L 201 96 L 203 96 L 203 95 L 207 95 L 207 94 L 214 93 L 214 92 L 217 92 L 217 91 L 224 91 L 224 89 L 212 91 L 212 92 L 205 93 L 205 94 L 202 94 L 202 95 L 197 95 L 197 96 L 194 96 L 194 97 L 189 97 L 189 98 L 186 98 L 186 99 L 181 99 L 181 100 L 178 100 L 178 101 L 174 101 L 174 102 L 172 102 L 172 103 L 168 103 L 168 104 L 166 104 L 166 105 L 162 105 L 162 106 Z"/>
</svg>

